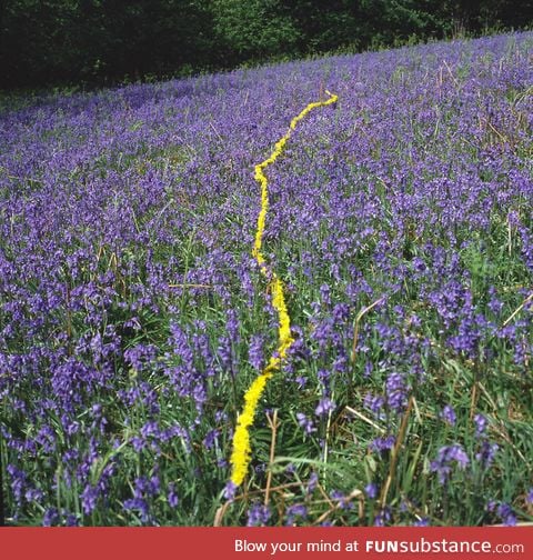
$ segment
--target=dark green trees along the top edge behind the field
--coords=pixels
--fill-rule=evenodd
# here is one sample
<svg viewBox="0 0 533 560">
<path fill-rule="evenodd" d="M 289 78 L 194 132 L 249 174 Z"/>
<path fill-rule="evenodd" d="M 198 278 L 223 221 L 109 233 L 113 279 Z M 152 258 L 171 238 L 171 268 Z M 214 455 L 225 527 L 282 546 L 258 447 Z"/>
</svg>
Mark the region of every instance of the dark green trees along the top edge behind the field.
<svg viewBox="0 0 533 560">
<path fill-rule="evenodd" d="M 0 80 L 112 83 L 532 21 L 533 0 L 0 0 Z"/>
</svg>

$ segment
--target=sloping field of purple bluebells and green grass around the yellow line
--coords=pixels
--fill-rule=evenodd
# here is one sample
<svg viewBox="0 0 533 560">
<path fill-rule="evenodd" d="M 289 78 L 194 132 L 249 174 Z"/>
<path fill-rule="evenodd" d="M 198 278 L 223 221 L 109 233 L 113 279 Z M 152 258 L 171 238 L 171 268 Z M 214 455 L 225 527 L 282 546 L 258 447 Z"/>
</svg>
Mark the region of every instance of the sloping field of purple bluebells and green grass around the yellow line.
<svg viewBox="0 0 533 560">
<path fill-rule="evenodd" d="M 2 102 L 7 524 L 533 521 L 533 33 Z M 228 492 L 237 414 L 294 344 Z"/>
</svg>

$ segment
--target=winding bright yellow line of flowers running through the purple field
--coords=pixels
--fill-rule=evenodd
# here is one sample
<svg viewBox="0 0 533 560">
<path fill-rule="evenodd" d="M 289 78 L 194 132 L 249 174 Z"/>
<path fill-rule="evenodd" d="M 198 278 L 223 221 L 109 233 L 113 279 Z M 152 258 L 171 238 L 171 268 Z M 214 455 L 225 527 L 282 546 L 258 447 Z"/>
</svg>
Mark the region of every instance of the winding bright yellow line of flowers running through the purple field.
<svg viewBox="0 0 533 560">
<path fill-rule="evenodd" d="M 253 423 L 253 418 L 255 416 L 255 410 L 258 408 L 259 399 L 261 398 L 266 381 L 272 377 L 275 370 L 280 368 L 281 361 L 285 358 L 286 351 L 294 342 L 291 336 L 291 319 L 286 310 L 285 297 L 283 291 L 283 282 L 278 277 L 278 274 L 270 270 L 264 260 L 264 256 L 261 252 L 263 244 L 263 233 L 264 224 L 266 220 L 266 212 L 269 210 L 269 181 L 264 174 L 264 170 L 271 163 L 273 163 L 279 156 L 283 152 L 283 149 L 291 138 L 292 131 L 296 128 L 299 121 L 301 121 L 309 112 L 319 107 L 325 107 L 334 103 L 339 97 L 326 91 L 330 98 L 326 101 L 315 101 L 309 103 L 303 111 L 291 120 L 289 130 L 283 137 L 278 140 L 274 146 L 274 151 L 270 154 L 268 159 L 258 163 L 255 166 L 255 181 L 261 186 L 261 210 L 258 218 L 258 230 L 255 232 L 255 241 L 253 243 L 252 256 L 258 262 L 261 272 L 266 278 L 270 278 L 270 289 L 272 292 L 272 306 L 278 312 L 278 349 L 273 356 L 270 357 L 269 363 L 264 368 L 263 372 L 253 380 L 252 384 L 244 393 L 244 407 L 242 412 L 237 419 L 235 433 L 233 436 L 233 450 L 231 453 L 231 481 L 235 486 L 242 484 L 244 477 L 247 476 L 248 467 L 250 464 L 252 450 L 250 447 L 250 427 Z"/>
</svg>

